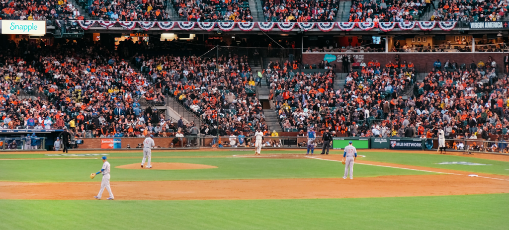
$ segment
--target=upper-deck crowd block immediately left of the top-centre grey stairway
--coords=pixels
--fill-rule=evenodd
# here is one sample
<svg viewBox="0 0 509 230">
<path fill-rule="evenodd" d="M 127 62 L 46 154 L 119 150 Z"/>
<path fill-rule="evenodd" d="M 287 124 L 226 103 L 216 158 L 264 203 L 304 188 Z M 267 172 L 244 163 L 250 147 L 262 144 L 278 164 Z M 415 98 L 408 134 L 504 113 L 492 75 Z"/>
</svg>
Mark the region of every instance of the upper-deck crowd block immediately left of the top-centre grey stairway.
<svg viewBox="0 0 509 230">
<path fill-rule="evenodd" d="M 175 11 L 187 21 L 253 21 L 249 3 L 237 0 L 176 0 Z"/>
</svg>

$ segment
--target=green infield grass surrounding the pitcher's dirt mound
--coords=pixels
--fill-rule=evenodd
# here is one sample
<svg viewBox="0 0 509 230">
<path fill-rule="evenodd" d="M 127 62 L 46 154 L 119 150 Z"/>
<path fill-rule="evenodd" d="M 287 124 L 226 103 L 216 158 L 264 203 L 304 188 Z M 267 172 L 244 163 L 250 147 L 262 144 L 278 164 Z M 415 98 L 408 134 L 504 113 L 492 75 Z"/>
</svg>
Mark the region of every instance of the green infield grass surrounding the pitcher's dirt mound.
<svg viewBox="0 0 509 230">
<path fill-rule="evenodd" d="M 153 162 L 180 162 L 217 166 L 192 170 L 134 170 L 115 166 L 140 163 L 141 159 L 110 159 L 111 181 L 231 180 L 280 178 L 340 178 L 338 162 L 310 159 L 265 158 L 153 158 Z M 0 181 L 90 182 L 91 172 L 102 167 L 100 159 L 5 160 L 0 161 Z M 355 177 L 430 175 L 431 172 L 356 165 Z"/>
</svg>

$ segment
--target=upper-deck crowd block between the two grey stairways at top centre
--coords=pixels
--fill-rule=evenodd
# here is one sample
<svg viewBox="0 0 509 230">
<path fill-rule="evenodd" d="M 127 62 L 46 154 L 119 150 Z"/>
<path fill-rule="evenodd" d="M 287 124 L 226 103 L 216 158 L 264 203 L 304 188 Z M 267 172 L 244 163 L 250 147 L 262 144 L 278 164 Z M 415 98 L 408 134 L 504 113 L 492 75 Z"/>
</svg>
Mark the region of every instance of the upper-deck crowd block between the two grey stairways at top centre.
<svg viewBox="0 0 509 230">
<path fill-rule="evenodd" d="M 337 0 L 265 0 L 263 14 L 272 22 L 331 22 L 335 21 L 339 3 Z"/>
</svg>

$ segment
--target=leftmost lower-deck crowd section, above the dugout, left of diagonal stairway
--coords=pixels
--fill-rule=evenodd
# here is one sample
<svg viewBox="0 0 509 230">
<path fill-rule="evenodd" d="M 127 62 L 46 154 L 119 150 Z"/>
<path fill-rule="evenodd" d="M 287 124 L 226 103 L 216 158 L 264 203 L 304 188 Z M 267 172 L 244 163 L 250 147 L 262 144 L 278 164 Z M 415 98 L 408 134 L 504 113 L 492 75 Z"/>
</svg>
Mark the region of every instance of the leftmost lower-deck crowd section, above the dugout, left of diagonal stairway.
<svg viewBox="0 0 509 230">
<path fill-rule="evenodd" d="M 176 126 L 145 100 L 163 101 L 145 77 L 99 42 L 1 46 L 2 129 L 62 129 L 75 137 L 163 135 Z M 21 97 L 20 91 L 34 96 Z M 145 107 L 145 106 L 144 106 Z"/>
</svg>

